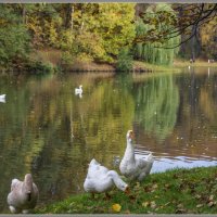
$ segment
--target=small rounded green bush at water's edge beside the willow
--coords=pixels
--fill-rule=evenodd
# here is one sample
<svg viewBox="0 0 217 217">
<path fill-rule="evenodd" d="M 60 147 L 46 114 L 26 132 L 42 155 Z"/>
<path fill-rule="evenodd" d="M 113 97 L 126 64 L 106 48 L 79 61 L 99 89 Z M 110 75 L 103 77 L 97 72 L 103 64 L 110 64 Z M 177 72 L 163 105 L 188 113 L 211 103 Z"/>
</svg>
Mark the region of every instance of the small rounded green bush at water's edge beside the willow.
<svg viewBox="0 0 217 217">
<path fill-rule="evenodd" d="M 120 50 L 117 55 L 116 69 L 120 72 L 132 71 L 132 56 L 129 53 L 129 49 Z"/>
</svg>

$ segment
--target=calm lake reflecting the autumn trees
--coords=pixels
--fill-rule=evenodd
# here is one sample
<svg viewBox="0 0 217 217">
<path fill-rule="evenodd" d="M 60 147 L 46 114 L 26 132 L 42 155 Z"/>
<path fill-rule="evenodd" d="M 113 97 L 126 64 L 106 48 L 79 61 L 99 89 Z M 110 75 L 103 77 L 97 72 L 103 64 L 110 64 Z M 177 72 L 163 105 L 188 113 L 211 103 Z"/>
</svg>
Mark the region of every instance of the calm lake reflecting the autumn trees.
<svg viewBox="0 0 217 217">
<path fill-rule="evenodd" d="M 82 85 L 84 93 L 75 95 Z M 181 73 L 1 75 L 0 213 L 13 178 L 31 173 L 39 205 L 84 192 L 94 157 L 116 169 L 126 133 L 153 152 L 152 173 L 217 165 L 217 68 Z"/>
</svg>

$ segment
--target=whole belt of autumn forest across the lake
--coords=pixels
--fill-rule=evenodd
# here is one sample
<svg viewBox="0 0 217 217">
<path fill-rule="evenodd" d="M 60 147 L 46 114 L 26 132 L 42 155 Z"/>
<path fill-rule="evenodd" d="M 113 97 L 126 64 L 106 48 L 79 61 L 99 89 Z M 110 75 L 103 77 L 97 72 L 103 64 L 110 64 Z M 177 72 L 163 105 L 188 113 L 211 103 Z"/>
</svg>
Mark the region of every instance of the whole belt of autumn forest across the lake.
<svg viewBox="0 0 217 217">
<path fill-rule="evenodd" d="M 129 71 L 133 60 L 215 60 L 216 12 L 216 4 L 0 4 L 0 69 L 97 63 Z"/>
</svg>

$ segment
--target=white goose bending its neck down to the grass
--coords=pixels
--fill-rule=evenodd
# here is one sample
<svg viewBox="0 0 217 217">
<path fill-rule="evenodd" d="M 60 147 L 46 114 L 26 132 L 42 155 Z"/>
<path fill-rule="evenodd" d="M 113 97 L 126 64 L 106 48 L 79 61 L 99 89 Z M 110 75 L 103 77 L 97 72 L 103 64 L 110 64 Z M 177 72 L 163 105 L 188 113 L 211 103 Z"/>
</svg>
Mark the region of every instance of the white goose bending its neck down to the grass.
<svg viewBox="0 0 217 217">
<path fill-rule="evenodd" d="M 107 196 L 107 192 L 116 186 L 119 190 L 129 193 L 129 187 L 125 183 L 115 170 L 108 170 L 101 166 L 94 158 L 90 162 L 88 175 L 86 177 L 84 189 L 86 192 L 103 193 Z"/>
</svg>

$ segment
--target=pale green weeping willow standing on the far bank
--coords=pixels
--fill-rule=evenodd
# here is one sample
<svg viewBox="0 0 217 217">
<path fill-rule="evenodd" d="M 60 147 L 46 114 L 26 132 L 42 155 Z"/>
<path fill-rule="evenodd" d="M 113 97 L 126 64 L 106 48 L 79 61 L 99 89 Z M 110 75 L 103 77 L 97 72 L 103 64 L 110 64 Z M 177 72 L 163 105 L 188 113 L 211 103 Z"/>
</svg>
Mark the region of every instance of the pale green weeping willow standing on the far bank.
<svg viewBox="0 0 217 217">
<path fill-rule="evenodd" d="M 146 9 L 146 15 L 155 17 L 155 13 L 158 11 L 164 11 L 165 14 L 175 14 L 174 10 L 170 8 L 169 4 L 154 4 L 150 5 Z M 171 16 L 171 15 L 170 15 Z M 155 17 L 157 18 L 157 17 Z M 139 18 L 136 23 L 136 30 L 137 30 L 137 37 L 136 38 L 143 38 L 143 36 L 146 36 L 148 34 L 150 37 L 154 37 L 154 35 L 158 31 L 161 34 L 162 29 L 165 31 L 169 29 L 171 26 L 167 25 L 161 25 L 159 21 L 157 22 L 157 28 L 155 24 L 148 24 L 144 23 L 143 20 Z M 180 41 L 180 37 L 171 37 L 169 40 L 166 41 L 139 41 L 136 43 L 135 48 L 135 58 L 153 63 L 153 64 L 166 64 L 170 65 L 174 61 L 175 55 L 178 53 L 179 49 L 162 49 L 162 47 L 176 47 Z"/>
</svg>

